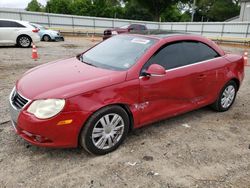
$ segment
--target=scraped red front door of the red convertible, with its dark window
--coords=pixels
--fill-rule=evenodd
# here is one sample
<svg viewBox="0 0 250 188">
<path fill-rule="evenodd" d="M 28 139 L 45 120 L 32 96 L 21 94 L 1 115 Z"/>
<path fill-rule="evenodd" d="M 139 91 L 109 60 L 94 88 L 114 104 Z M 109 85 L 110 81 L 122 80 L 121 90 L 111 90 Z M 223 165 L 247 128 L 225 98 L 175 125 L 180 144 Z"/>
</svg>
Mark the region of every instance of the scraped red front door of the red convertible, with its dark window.
<svg viewBox="0 0 250 188">
<path fill-rule="evenodd" d="M 198 65 L 198 54 L 195 51 L 190 54 L 186 47 L 185 41 L 167 44 L 142 68 L 143 72 L 151 64 L 159 64 L 165 67 L 166 75 L 140 77 L 140 124 L 195 109 L 211 89 L 207 72 L 193 67 Z"/>
</svg>

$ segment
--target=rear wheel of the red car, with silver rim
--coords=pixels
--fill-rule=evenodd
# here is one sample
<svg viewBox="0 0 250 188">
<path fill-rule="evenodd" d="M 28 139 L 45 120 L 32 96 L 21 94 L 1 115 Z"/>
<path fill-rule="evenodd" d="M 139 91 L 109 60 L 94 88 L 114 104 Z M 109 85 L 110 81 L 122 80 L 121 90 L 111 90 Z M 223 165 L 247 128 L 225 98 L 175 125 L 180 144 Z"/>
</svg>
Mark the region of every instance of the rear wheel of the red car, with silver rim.
<svg viewBox="0 0 250 188">
<path fill-rule="evenodd" d="M 212 108 L 218 112 L 225 112 L 233 105 L 238 87 L 235 81 L 229 81 L 221 90 L 218 99 L 212 104 Z"/>
</svg>

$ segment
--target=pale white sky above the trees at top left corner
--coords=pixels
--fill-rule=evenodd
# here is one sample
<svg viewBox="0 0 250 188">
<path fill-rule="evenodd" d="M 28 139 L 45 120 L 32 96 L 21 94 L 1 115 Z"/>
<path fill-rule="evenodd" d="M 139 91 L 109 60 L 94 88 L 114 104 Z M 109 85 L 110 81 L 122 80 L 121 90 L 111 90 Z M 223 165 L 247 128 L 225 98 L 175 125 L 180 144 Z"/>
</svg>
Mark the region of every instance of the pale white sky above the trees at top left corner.
<svg viewBox="0 0 250 188">
<path fill-rule="evenodd" d="M 20 8 L 25 9 L 31 0 L 0 0 L 0 8 Z M 42 5 L 46 4 L 47 0 L 38 0 Z"/>
</svg>

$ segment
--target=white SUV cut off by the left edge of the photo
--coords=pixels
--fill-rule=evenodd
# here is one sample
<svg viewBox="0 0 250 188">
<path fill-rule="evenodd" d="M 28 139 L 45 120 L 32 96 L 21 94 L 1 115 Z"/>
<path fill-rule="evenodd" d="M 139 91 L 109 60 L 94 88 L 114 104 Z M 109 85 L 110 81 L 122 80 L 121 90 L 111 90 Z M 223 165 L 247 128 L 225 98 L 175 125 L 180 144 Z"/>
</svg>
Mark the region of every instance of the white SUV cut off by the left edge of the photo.
<svg viewBox="0 0 250 188">
<path fill-rule="evenodd" d="M 28 48 L 32 42 L 40 41 L 38 31 L 26 21 L 0 19 L 0 46 L 18 45 Z"/>
</svg>

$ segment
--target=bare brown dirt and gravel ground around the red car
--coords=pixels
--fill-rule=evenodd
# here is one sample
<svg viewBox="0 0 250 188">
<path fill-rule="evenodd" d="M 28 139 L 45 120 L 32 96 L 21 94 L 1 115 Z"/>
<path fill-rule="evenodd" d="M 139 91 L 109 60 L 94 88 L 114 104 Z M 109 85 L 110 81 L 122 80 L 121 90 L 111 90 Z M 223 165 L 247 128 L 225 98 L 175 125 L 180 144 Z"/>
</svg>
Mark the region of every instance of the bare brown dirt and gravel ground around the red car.
<svg viewBox="0 0 250 188">
<path fill-rule="evenodd" d="M 8 114 L 15 81 L 32 67 L 92 45 L 72 37 L 41 42 L 38 61 L 31 59 L 31 49 L 0 48 L 0 187 L 250 187 L 250 67 L 228 112 L 203 108 L 135 130 L 105 156 L 40 148 L 19 138 Z"/>
</svg>

